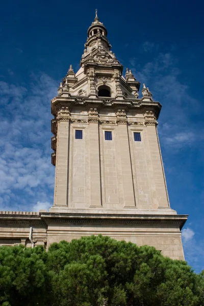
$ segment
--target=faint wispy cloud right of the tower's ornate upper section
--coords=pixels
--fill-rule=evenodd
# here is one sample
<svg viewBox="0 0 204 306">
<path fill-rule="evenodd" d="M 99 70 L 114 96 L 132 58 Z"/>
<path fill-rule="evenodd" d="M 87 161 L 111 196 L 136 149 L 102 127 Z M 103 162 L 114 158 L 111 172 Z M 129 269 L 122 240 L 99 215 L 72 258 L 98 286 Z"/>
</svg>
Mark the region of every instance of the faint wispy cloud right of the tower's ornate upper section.
<svg viewBox="0 0 204 306">
<path fill-rule="evenodd" d="M 151 48 L 154 43 L 144 42 L 142 47 Z M 198 133 L 193 120 L 189 118 L 189 112 L 199 112 L 201 104 L 189 94 L 188 86 L 179 80 L 177 59 L 171 53 L 160 52 L 143 67 L 137 64 L 136 58 L 132 58 L 130 64 L 137 80 L 145 83 L 153 98 L 165 105 L 159 120 L 162 144 L 181 148 L 200 141 L 203 138 L 203 127 L 200 127 Z M 189 124 L 190 121 L 192 124 Z"/>
</svg>

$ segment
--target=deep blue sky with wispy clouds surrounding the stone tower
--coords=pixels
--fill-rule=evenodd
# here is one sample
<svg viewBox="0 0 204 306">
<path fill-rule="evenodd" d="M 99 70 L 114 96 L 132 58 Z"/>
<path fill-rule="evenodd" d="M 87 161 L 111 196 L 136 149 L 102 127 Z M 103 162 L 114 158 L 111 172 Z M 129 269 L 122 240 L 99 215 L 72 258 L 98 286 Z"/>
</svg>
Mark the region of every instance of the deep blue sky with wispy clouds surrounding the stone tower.
<svg viewBox="0 0 204 306">
<path fill-rule="evenodd" d="M 203 6 L 149 0 L 1 4 L 0 210 L 52 206 L 50 99 L 69 65 L 79 69 L 97 8 L 118 60 L 163 105 L 158 129 L 170 204 L 189 214 L 186 260 L 197 272 L 204 269 Z"/>
</svg>

